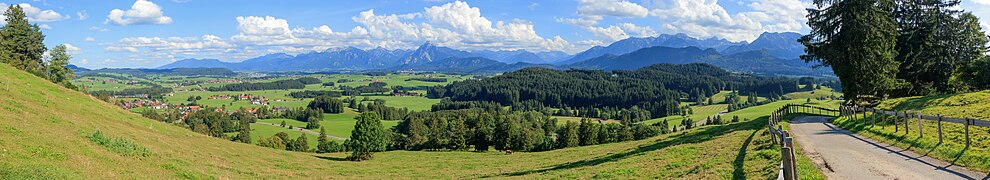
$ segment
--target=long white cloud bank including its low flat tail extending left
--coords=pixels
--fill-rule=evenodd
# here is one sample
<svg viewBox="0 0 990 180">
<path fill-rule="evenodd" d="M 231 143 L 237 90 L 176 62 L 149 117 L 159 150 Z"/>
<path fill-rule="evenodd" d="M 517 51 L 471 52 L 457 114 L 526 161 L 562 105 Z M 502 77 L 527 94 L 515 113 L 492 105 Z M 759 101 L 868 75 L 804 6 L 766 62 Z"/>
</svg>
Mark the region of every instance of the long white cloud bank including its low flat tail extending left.
<svg viewBox="0 0 990 180">
<path fill-rule="evenodd" d="M 454 1 L 407 14 L 379 14 L 370 9 L 351 18 L 353 27 L 299 27 L 274 16 L 236 17 L 238 32 L 229 38 L 130 37 L 101 44 L 107 51 L 131 53 L 133 60 L 176 56 L 239 60 L 266 53 L 303 53 L 328 48 L 412 49 L 429 41 L 464 50 L 517 50 L 575 52 L 559 36 L 541 37 L 532 22 L 492 21 L 481 9 Z"/>
</svg>

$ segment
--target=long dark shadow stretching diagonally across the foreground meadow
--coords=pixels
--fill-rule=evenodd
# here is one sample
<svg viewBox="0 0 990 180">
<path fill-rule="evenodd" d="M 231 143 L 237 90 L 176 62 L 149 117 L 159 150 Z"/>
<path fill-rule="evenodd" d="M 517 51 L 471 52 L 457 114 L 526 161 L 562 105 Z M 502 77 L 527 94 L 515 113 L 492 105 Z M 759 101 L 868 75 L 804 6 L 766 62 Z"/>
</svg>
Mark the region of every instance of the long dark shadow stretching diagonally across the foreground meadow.
<svg viewBox="0 0 990 180">
<path fill-rule="evenodd" d="M 725 135 L 739 130 L 758 130 L 760 128 L 764 128 L 763 125 L 765 125 L 766 123 L 767 123 L 767 117 L 764 116 L 748 122 L 719 125 L 719 126 L 706 126 L 695 130 L 689 130 L 690 132 L 684 132 L 682 134 L 659 139 L 656 141 L 656 143 L 649 145 L 641 145 L 635 149 L 622 153 L 600 156 L 593 159 L 557 164 L 553 166 L 547 166 L 544 168 L 533 169 L 528 171 L 508 172 L 497 175 L 486 175 L 486 176 L 482 176 L 481 178 L 522 176 L 528 174 L 544 173 L 549 171 L 559 171 L 559 170 L 568 170 L 568 169 L 574 169 L 580 167 L 597 166 L 608 162 L 619 161 L 629 157 L 640 156 L 647 152 L 663 149 L 666 147 L 671 147 L 681 144 L 700 143 L 700 142 L 712 140 L 721 135 Z M 750 138 L 752 138 L 752 136 L 750 136 Z M 749 140 L 747 140 L 747 142 L 749 142 Z M 740 164 L 736 168 L 742 168 L 742 165 Z"/>
</svg>

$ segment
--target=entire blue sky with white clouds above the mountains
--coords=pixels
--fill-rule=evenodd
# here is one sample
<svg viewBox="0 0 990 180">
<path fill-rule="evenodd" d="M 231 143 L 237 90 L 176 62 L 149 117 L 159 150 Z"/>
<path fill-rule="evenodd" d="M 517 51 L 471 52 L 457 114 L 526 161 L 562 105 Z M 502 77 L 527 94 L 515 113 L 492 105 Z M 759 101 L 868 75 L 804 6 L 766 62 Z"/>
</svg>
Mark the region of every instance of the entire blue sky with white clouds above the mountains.
<svg viewBox="0 0 990 180">
<path fill-rule="evenodd" d="M 567 53 L 658 34 L 748 42 L 763 32 L 807 33 L 804 9 L 813 7 L 810 0 L 3 0 L 0 10 L 14 4 L 42 28 L 46 45 L 65 44 L 70 62 L 86 68 L 425 42 Z M 990 0 L 963 0 L 961 8 L 990 24 Z"/>
</svg>

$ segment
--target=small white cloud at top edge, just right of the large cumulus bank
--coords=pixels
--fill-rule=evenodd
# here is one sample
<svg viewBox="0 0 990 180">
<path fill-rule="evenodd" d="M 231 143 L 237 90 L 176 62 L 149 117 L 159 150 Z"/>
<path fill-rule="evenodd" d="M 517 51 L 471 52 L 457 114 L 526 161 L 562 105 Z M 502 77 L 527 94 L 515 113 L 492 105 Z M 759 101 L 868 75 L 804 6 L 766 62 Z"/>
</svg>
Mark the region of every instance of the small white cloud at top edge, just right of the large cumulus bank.
<svg viewBox="0 0 990 180">
<path fill-rule="evenodd" d="M 579 0 L 578 3 L 581 16 L 643 18 L 649 14 L 645 7 L 625 0 Z"/>
</svg>

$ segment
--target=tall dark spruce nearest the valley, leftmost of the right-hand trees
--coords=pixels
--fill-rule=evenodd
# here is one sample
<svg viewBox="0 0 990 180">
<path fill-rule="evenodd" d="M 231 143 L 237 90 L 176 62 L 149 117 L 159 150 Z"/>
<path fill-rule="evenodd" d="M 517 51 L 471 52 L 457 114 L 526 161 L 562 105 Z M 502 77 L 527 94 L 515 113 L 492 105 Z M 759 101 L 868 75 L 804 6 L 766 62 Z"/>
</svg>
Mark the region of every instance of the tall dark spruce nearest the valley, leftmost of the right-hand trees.
<svg viewBox="0 0 990 180">
<path fill-rule="evenodd" d="M 798 41 L 801 59 L 832 67 L 847 100 L 884 97 L 906 83 L 896 78 L 894 0 L 814 0 L 811 31 Z"/>
</svg>

